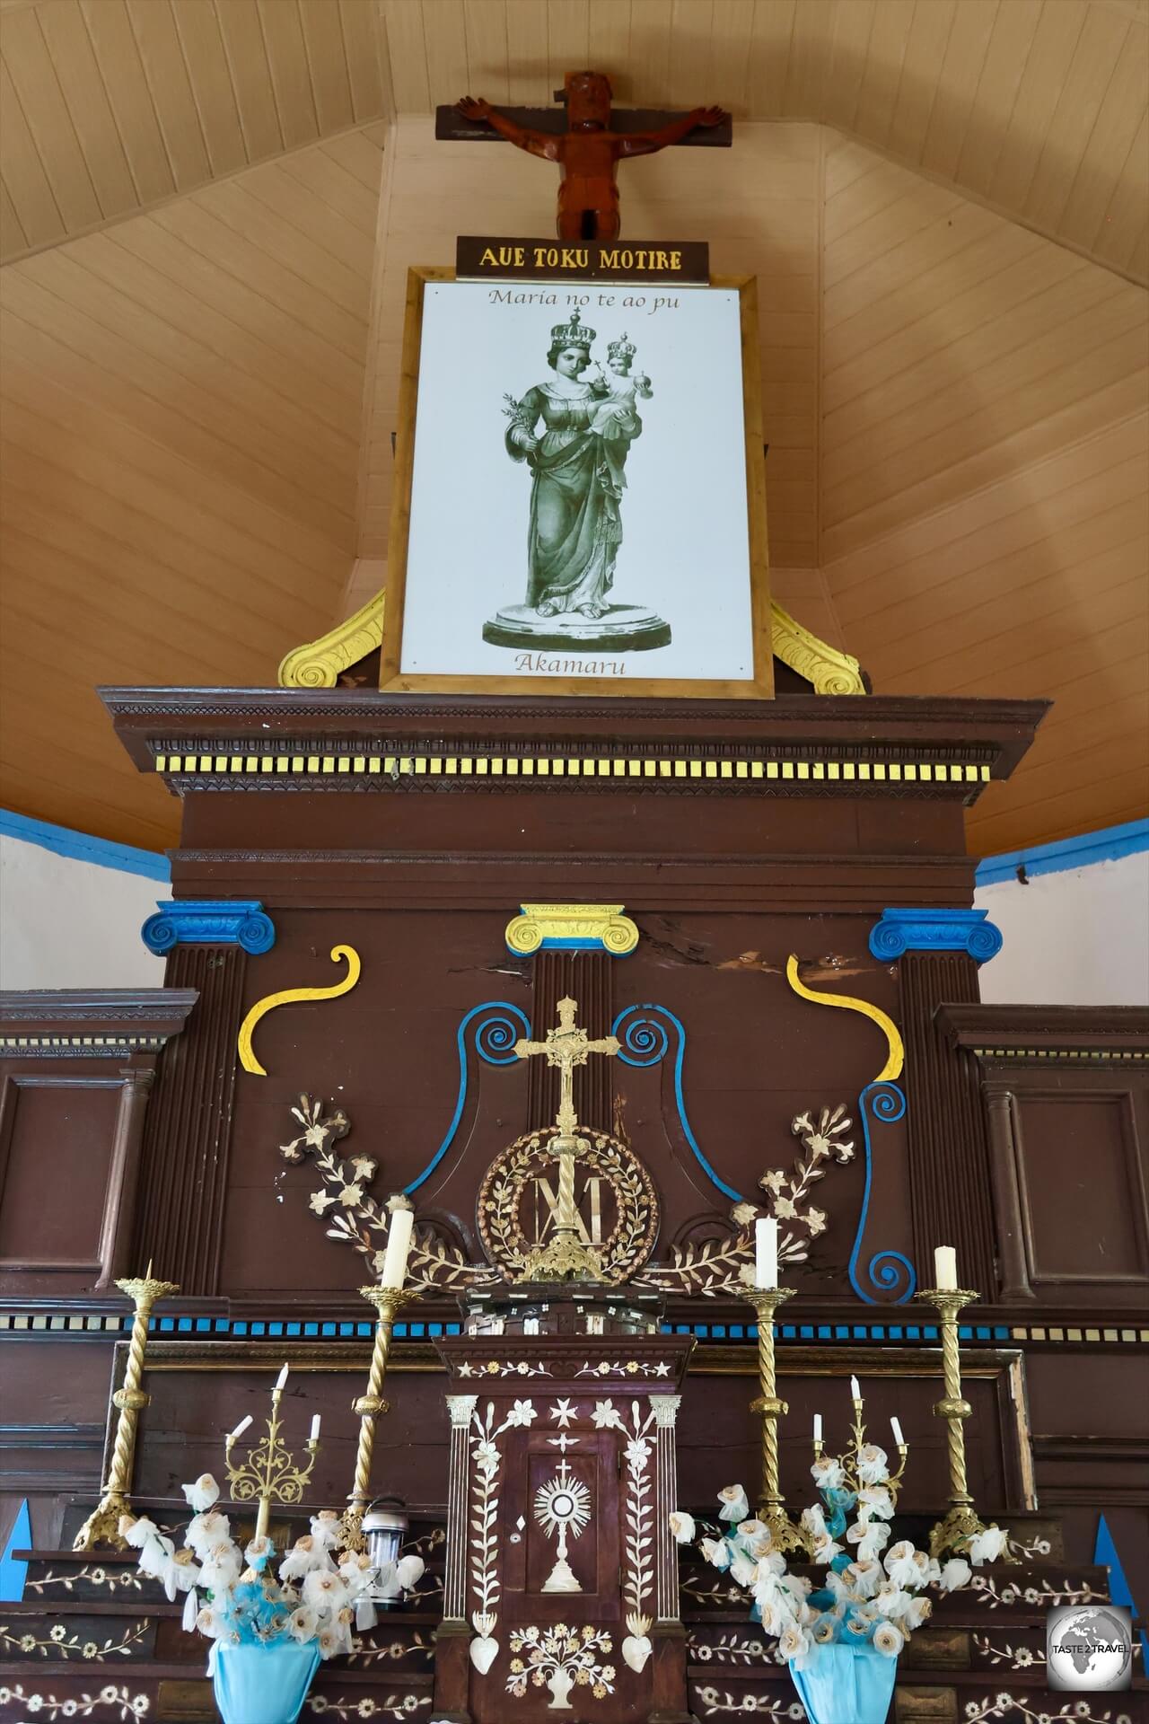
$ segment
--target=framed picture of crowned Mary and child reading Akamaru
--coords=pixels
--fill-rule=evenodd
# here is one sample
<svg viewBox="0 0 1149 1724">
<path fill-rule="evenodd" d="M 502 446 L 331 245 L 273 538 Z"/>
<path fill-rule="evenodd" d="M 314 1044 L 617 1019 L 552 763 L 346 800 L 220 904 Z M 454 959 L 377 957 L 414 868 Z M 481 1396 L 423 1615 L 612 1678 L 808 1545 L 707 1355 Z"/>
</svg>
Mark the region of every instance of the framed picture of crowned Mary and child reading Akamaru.
<svg viewBox="0 0 1149 1724">
<path fill-rule="evenodd" d="M 381 688 L 768 696 L 753 278 L 408 276 Z"/>
</svg>

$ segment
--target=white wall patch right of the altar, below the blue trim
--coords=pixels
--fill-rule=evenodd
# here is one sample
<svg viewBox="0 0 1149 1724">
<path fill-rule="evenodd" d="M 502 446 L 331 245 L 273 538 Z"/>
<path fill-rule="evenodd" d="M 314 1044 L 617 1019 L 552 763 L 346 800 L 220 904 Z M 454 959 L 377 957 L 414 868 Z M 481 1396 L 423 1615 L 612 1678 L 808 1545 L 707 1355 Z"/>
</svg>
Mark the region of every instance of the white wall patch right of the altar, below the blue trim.
<svg viewBox="0 0 1149 1724">
<path fill-rule="evenodd" d="M 1004 945 L 982 964 L 991 1005 L 1149 1005 L 1149 850 L 978 886 Z"/>
</svg>

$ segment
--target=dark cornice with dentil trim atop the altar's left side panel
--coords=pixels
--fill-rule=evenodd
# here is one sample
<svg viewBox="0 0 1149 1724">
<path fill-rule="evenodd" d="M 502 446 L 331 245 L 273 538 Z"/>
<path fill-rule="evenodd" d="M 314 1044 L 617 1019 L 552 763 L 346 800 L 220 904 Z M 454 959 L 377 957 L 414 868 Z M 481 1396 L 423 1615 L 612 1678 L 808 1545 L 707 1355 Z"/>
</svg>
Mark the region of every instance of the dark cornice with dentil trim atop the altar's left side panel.
<svg viewBox="0 0 1149 1724">
<path fill-rule="evenodd" d="M 124 1059 L 177 1036 L 195 988 L 29 990 L 0 993 L 0 1053 L 38 1059 Z"/>
</svg>

